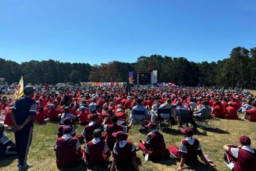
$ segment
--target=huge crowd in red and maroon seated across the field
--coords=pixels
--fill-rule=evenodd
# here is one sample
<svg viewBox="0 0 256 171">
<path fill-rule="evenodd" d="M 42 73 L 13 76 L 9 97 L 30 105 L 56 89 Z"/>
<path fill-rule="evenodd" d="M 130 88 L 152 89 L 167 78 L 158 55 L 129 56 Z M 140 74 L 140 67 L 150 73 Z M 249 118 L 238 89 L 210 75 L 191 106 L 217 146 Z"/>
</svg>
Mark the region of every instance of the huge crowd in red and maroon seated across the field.
<svg viewBox="0 0 256 171">
<path fill-rule="evenodd" d="M 193 137 L 198 127 L 196 120 L 213 117 L 238 119 L 238 113 L 243 113 L 242 119 L 256 121 L 256 98 L 248 90 L 134 87 L 128 93 L 119 87 L 46 89 L 29 95 L 31 87 L 25 88 L 27 94 L 22 102 L 30 103 L 28 116 L 34 116 L 34 122 L 60 124 L 56 129 L 54 146 L 56 164 L 60 168 L 76 166 L 81 160 L 88 167 L 104 167 L 112 155 L 111 170 L 139 170 L 136 163 L 136 152 L 139 150 L 145 155 L 145 160 L 160 161 L 171 157 L 179 161 L 178 170 L 183 170 L 185 163 L 198 161 L 197 155 L 209 167 L 216 167 L 203 154 L 199 140 Z M 18 150 L 2 131 L 3 125 L 13 126 L 16 131 L 20 131 L 27 129 L 27 124 L 32 124 L 30 121 L 25 123 L 27 117 L 23 120 L 17 118 L 17 113 L 27 110 L 25 107 L 20 107 L 23 111 L 17 110 L 22 105 L 21 100 L 14 102 L 4 95 L 0 98 L 0 111 L 5 116 L 4 124 L 0 125 L 0 155 L 7 155 L 10 151 L 11 154 L 15 154 L 15 151 L 18 155 L 24 153 L 24 149 Z M 186 121 L 183 120 L 184 114 L 189 115 Z M 17 123 L 17 119 L 22 122 Z M 166 146 L 163 134 L 158 131 L 164 120 L 178 124 L 184 133 L 180 148 Z M 84 126 L 83 132 L 76 132 L 76 124 Z M 138 125 L 148 134 L 145 140 L 138 140 L 139 147 L 136 148 L 128 136 L 130 129 Z M 19 136 L 30 134 L 16 133 L 17 139 Z M 234 170 L 254 170 L 256 151 L 250 147 L 251 140 L 243 136 L 239 141 L 241 146 L 223 147 L 225 163 Z M 86 145 L 83 148 L 81 144 L 84 142 Z M 20 169 L 30 167 L 23 160 L 19 164 L 22 166 Z"/>
</svg>

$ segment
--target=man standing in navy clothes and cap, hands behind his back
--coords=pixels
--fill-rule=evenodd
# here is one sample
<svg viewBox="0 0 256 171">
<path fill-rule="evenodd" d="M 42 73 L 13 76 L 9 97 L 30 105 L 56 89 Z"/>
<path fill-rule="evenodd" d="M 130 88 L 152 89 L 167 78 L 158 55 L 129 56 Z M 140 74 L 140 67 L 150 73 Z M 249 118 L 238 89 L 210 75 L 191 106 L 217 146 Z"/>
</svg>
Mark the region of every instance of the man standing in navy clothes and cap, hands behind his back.
<svg viewBox="0 0 256 171">
<path fill-rule="evenodd" d="M 26 86 L 25 96 L 15 102 L 11 113 L 19 162 L 18 170 L 26 170 L 32 166 L 27 163 L 27 155 L 32 140 L 34 116 L 36 116 L 36 102 L 32 99 L 34 90 L 33 87 Z"/>
</svg>

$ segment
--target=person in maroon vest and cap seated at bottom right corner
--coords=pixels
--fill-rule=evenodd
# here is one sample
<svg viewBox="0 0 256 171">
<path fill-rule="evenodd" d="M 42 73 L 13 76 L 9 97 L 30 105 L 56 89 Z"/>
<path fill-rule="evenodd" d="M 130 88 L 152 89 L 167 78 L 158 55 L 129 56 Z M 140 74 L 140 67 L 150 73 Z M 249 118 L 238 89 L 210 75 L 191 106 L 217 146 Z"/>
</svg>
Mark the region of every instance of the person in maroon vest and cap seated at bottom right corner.
<svg viewBox="0 0 256 171">
<path fill-rule="evenodd" d="M 251 148 L 251 139 L 247 136 L 239 138 L 240 146 L 225 145 L 223 149 L 224 163 L 231 170 L 255 170 L 256 168 L 256 150 Z"/>
</svg>

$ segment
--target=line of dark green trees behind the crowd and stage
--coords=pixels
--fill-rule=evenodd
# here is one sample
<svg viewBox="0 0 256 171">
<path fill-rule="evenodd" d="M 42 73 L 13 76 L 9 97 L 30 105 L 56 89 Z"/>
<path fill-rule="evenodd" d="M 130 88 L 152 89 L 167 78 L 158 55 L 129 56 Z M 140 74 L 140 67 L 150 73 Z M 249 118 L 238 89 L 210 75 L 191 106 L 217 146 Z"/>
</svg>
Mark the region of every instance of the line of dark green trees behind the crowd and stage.
<svg viewBox="0 0 256 171">
<path fill-rule="evenodd" d="M 228 58 L 195 63 L 183 57 L 151 55 L 139 57 L 136 63 L 111 61 L 91 66 L 89 63 L 29 61 L 21 64 L 0 58 L 0 78 L 18 82 L 22 73 L 27 82 L 126 82 L 130 71 L 158 70 L 158 82 L 175 82 L 189 86 L 223 86 L 256 88 L 256 48 L 234 48 Z"/>
</svg>

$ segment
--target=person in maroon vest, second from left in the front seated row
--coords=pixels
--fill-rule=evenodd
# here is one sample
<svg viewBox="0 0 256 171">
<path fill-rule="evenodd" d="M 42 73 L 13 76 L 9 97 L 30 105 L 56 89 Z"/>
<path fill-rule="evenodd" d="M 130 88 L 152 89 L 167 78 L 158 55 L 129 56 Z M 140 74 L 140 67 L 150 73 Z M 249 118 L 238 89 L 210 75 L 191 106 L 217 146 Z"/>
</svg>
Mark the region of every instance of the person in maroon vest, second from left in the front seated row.
<svg viewBox="0 0 256 171">
<path fill-rule="evenodd" d="M 83 159 L 87 166 L 104 165 L 107 163 L 111 153 L 105 141 L 101 140 L 101 130 L 93 131 L 93 139 L 86 144 Z"/>
</svg>

